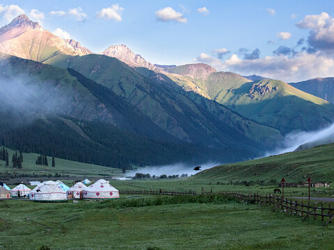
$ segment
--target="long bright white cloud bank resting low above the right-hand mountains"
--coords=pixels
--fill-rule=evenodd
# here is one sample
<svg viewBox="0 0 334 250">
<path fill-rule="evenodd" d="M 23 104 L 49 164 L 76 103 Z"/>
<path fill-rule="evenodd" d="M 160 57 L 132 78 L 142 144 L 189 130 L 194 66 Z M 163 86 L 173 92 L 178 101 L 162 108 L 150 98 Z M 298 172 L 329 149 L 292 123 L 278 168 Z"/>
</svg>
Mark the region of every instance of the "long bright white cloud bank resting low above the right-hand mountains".
<svg viewBox="0 0 334 250">
<path fill-rule="evenodd" d="M 194 63 L 207 63 L 219 71 L 231 71 L 242 75 L 258 74 L 286 82 L 333 76 L 334 71 L 333 58 L 319 52 L 310 54 L 305 51 L 290 58 L 280 55 L 255 60 L 243 60 L 233 54 L 223 62 L 201 53 Z"/>
</svg>

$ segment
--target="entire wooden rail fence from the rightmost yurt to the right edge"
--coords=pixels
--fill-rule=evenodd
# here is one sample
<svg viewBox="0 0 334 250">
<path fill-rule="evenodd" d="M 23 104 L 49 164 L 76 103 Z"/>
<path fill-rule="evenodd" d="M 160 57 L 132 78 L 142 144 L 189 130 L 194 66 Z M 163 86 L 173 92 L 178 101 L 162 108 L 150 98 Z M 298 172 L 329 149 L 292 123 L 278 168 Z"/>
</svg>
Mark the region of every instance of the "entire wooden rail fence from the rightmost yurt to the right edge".
<svg viewBox="0 0 334 250">
<path fill-rule="evenodd" d="M 173 191 L 173 190 L 119 190 L 120 194 L 161 194 L 161 195 L 199 195 L 196 190 L 188 190 L 188 191 Z M 205 192 L 202 188 L 202 195 L 213 194 L 212 190 L 210 192 Z M 272 206 L 273 211 L 281 210 L 285 212 L 285 215 L 296 215 L 303 217 L 302 220 L 305 219 L 320 219 L 321 222 L 325 221 L 325 218 L 328 218 L 326 222 L 324 222 L 324 226 L 328 223 L 331 223 L 334 219 L 334 208 L 331 208 L 329 204 L 328 207 L 324 207 L 323 202 L 313 202 L 313 206 L 308 201 L 304 203 L 301 201 L 292 201 L 291 199 L 283 199 L 276 194 L 242 194 L 240 192 L 228 192 L 228 191 L 220 191 L 214 192 L 214 194 L 221 194 L 225 196 L 235 197 L 240 201 L 244 201 L 245 203 L 255 203 L 260 206 Z M 321 203 L 320 206 L 318 204 Z"/>
</svg>

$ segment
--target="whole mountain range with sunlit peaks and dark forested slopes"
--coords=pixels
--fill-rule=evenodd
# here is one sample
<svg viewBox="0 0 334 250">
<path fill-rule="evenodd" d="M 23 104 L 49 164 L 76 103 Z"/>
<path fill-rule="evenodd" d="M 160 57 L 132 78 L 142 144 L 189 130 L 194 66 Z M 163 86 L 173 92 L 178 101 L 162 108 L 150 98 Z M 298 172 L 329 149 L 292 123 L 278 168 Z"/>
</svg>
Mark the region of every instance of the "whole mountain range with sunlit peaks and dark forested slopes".
<svg viewBox="0 0 334 250">
<path fill-rule="evenodd" d="M 5 99 L 10 108 L 1 116 L 10 119 L 1 123 L 0 138 L 24 151 L 116 167 L 232 162 L 260 156 L 286 133 L 334 120 L 331 103 L 282 81 L 254 81 L 205 64 L 154 65 L 125 45 L 92 53 L 26 15 L 0 28 L 0 52 L 6 88 L 27 89 L 29 103 Z M 8 110 L 24 122 L 11 128 L 17 116 Z M 68 147 L 36 139 L 56 133 Z"/>
</svg>

